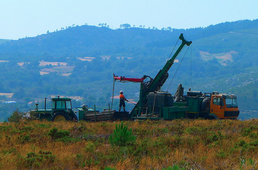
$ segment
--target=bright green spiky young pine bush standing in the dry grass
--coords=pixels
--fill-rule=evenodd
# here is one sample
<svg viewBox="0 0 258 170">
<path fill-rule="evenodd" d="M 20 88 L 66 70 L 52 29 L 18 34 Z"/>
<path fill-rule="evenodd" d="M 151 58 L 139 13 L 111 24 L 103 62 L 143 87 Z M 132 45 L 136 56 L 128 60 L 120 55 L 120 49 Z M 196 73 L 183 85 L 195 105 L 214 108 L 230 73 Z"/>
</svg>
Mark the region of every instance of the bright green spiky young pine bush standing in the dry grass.
<svg viewBox="0 0 258 170">
<path fill-rule="evenodd" d="M 128 126 L 123 126 L 123 122 L 118 126 L 115 125 L 115 130 L 109 136 L 109 143 L 112 146 L 126 146 L 135 141 L 136 137 L 132 134 L 132 129 L 127 130 Z"/>
</svg>

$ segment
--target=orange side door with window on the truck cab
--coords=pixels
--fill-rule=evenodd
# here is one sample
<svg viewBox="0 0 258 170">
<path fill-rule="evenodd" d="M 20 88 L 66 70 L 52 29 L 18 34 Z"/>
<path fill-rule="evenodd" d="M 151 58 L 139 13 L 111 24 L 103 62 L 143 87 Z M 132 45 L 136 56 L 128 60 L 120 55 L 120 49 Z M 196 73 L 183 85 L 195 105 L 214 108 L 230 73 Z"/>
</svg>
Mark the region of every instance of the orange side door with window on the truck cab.
<svg viewBox="0 0 258 170">
<path fill-rule="evenodd" d="M 210 104 L 210 113 L 215 114 L 219 118 L 224 118 L 224 100 L 220 96 L 212 97 Z"/>
</svg>

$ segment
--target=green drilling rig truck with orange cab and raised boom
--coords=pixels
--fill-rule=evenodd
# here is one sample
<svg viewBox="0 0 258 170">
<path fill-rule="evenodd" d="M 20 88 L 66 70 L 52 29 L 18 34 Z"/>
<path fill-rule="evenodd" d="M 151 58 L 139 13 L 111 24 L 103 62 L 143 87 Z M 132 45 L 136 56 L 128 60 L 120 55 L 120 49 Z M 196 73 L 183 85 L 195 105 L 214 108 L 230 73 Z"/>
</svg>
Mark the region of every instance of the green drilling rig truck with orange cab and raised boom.
<svg viewBox="0 0 258 170">
<path fill-rule="evenodd" d="M 154 79 L 140 82 L 139 101 L 130 112 L 130 119 L 179 119 L 179 118 L 205 118 L 205 119 L 237 119 L 239 109 L 235 95 L 219 94 L 218 92 L 204 93 L 199 91 L 187 92 L 183 95 L 183 87 L 179 84 L 177 92 L 172 96 L 169 92 L 160 89 L 169 76 L 169 69 L 185 45 L 190 46 L 192 41 L 186 41 L 183 34 L 179 36 L 182 41 L 174 55 L 157 73 Z M 149 77 L 144 76 L 142 79 Z M 122 80 L 114 76 L 115 80 Z M 125 80 L 126 78 L 123 77 Z M 127 78 L 130 81 L 133 78 Z M 135 79 L 135 78 L 134 78 Z M 139 79 L 138 79 L 139 80 Z M 135 80 L 132 80 L 136 82 Z"/>
</svg>

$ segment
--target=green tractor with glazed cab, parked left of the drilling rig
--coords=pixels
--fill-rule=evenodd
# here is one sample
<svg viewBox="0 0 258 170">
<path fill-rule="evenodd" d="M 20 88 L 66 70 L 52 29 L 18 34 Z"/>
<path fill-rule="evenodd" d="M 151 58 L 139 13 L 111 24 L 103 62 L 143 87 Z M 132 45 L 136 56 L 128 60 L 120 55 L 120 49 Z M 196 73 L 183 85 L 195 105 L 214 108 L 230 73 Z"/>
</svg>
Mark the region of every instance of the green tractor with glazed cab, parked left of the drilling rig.
<svg viewBox="0 0 258 170">
<path fill-rule="evenodd" d="M 38 109 L 38 104 L 36 104 L 36 109 L 30 111 L 30 115 L 34 116 L 40 120 L 48 120 L 52 122 L 59 121 L 76 121 L 78 122 L 78 117 L 76 112 L 72 108 L 72 103 L 70 98 L 52 98 L 52 108 L 46 109 L 46 98 L 45 98 L 45 109 Z"/>
</svg>

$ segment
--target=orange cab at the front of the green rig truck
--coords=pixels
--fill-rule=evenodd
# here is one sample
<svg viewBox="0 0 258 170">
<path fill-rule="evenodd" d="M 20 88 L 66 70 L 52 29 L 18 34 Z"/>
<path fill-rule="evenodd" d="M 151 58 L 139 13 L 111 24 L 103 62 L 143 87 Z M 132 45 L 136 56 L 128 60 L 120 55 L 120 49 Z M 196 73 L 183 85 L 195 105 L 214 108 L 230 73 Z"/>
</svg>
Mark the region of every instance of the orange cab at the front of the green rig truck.
<svg viewBox="0 0 258 170">
<path fill-rule="evenodd" d="M 212 95 L 209 116 L 222 119 L 237 119 L 239 112 L 236 95 L 219 93 Z"/>
</svg>

